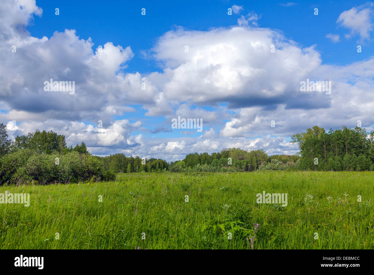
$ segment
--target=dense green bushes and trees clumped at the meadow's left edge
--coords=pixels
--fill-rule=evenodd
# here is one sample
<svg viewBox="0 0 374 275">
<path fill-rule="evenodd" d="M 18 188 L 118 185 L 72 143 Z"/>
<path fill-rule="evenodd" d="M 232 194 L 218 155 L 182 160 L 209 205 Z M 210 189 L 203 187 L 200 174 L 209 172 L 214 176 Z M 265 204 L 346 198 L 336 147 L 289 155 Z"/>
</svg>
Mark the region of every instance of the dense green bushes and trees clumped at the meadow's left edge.
<svg viewBox="0 0 374 275">
<path fill-rule="evenodd" d="M 82 141 L 66 146 L 65 136 L 39 131 L 9 139 L 6 125 L 0 124 L 0 185 L 75 183 L 114 180 L 100 158 L 91 155 Z"/>
</svg>

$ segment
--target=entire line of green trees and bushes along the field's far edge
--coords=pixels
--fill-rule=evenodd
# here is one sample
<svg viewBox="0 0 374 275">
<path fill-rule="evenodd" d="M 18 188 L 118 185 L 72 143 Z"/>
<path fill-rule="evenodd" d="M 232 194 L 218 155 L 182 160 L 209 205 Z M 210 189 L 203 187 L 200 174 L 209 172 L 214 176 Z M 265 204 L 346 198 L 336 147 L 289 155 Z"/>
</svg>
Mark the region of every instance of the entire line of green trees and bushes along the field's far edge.
<svg viewBox="0 0 374 275">
<path fill-rule="evenodd" d="M 328 132 L 313 126 L 295 134 L 295 155 L 268 156 L 262 149 L 223 149 L 220 152 L 190 153 L 184 159 L 141 159 L 123 153 L 99 157 L 88 152 L 82 141 L 67 147 L 65 136 L 36 130 L 9 139 L 0 124 L 0 184 L 20 182 L 77 182 L 113 180 L 116 173 L 132 172 L 226 172 L 257 170 L 373 171 L 374 131 L 343 126 Z"/>
</svg>

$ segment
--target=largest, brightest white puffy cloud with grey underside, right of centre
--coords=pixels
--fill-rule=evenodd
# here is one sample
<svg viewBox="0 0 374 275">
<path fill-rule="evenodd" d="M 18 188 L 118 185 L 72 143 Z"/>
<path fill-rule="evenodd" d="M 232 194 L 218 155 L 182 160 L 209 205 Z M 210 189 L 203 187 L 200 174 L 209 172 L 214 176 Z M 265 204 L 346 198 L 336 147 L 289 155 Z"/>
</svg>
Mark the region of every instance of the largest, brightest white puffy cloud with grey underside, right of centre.
<svg viewBox="0 0 374 275">
<path fill-rule="evenodd" d="M 285 103 L 322 62 L 314 47 L 300 48 L 266 28 L 178 29 L 160 37 L 153 50 L 166 67 L 166 98 L 199 105 L 227 102 L 231 108 Z"/>
</svg>

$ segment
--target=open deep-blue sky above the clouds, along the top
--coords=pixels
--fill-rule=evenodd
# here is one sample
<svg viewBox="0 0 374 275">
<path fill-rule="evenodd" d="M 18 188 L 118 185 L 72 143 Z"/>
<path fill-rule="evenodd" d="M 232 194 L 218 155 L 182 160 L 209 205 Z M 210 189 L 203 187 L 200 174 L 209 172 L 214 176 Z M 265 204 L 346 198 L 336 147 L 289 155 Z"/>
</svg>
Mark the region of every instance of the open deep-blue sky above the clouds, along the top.
<svg viewBox="0 0 374 275">
<path fill-rule="evenodd" d="M 114 45 L 130 45 L 135 53 L 128 63 L 129 72 L 152 72 L 160 70 L 153 60 L 142 58 L 141 52 L 152 48 L 154 41 L 175 26 L 189 30 L 206 31 L 212 27 L 236 25 L 236 14 L 227 15 L 227 9 L 236 4 L 243 6 L 241 14 L 255 12 L 261 15 L 260 27 L 279 29 L 289 39 L 304 46 L 316 44 L 324 63 L 349 64 L 373 55 L 373 44 L 365 43 L 361 55 L 352 55 L 356 49 L 355 39 L 341 39 L 331 43 L 327 33 L 341 37 L 347 32 L 336 20 L 340 13 L 366 1 L 300 1 L 283 6 L 282 1 L 37 1 L 43 16 L 35 17 L 27 29 L 34 37 L 50 37 L 53 32 L 65 28 L 75 29 L 80 38 L 91 37 L 95 46 L 113 42 Z M 58 7 L 60 15 L 55 16 Z M 146 8 L 146 16 L 141 9 Z M 318 16 L 314 8 L 319 9 Z M 47 12 L 48 11 L 48 12 Z M 365 49 L 366 48 L 366 49 Z M 344 56 L 344 59 L 341 57 Z"/>
</svg>

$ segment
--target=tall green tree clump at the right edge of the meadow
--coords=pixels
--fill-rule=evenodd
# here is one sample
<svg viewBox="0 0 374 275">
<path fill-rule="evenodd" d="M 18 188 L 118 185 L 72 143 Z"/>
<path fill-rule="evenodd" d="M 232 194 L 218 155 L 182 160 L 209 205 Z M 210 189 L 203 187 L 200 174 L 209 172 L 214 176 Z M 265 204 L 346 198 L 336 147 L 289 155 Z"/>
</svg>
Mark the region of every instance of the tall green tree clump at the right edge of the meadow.
<svg viewBox="0 0 374 275">
<path fill-rule="evenodd" d="M 342 129 L 325 132 L 313 126 L 306 132 L 293 135 L 301 160 L 298 167 L 303 170 L 319 171 L 368 171 L 374 162 L 374 131 L 343 126 Z M 315 159 L 318 159 L 318 165 Z"/>
</svg>

